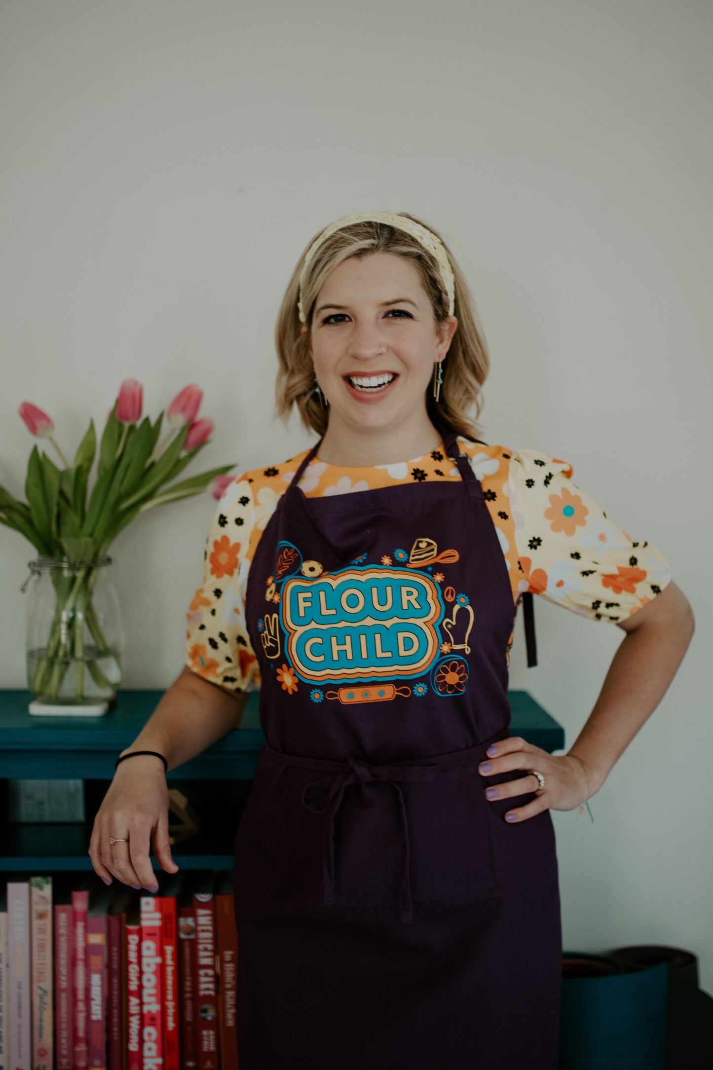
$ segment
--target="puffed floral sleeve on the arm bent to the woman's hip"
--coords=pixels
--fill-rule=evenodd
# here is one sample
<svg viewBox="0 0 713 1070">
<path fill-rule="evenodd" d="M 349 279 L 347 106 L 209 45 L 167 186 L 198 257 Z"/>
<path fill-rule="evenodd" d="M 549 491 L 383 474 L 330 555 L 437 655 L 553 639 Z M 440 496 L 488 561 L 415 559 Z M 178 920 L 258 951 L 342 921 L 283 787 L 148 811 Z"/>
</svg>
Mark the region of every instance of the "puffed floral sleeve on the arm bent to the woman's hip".
<svg viewBox="0 0 713 1070">
<path fill-rule="evenodd" d="M 521 578 L 519 591 L 542 595 L 594 621 L 617 623 L 667 586 L 661 550 L 634 540 L 572 482 L 566 461 L 514 450 L 507 491 Z"/>
</svg>

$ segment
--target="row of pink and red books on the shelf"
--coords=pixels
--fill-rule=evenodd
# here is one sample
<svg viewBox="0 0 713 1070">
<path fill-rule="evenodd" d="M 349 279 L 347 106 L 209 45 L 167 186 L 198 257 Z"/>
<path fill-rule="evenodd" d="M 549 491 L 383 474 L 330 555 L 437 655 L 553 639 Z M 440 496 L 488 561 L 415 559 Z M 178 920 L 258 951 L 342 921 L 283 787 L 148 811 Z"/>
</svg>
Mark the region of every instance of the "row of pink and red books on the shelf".
<svg viewBox="0 0 713 1070">
<path fill-rule="evenodd" d="M 0 1070 L 236 1070 L 231 874 L 9 881 Z"/>
</svg>

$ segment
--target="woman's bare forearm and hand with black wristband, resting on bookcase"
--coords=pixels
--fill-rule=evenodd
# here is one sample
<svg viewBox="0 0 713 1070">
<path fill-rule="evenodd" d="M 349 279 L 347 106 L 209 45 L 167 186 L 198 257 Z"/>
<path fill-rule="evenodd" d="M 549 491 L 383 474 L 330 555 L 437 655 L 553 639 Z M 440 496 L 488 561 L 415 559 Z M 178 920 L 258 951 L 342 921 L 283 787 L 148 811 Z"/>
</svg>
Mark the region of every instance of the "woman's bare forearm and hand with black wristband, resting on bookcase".
<svg viewBox="0 0 713 1070">
<path fill-rule="evenodd" d="M 200 754 L 240 723 L 247 696 L 228 691 L 198 676 L 187 667 L 162 697 L 138 736 L 122 754 L 155 750 L 168 768 Z M 109 838 L 127 843 L 109 843 Z M 175 873 L 168 843 L 168 785 L 163 762 L 151 755 L 128 759 L 118 766 L 94 819 L 89 855 L 105 884 L 111 875 L 134 888 L 157 886 L 150 847 L 162 869 Z"/>
</svg>

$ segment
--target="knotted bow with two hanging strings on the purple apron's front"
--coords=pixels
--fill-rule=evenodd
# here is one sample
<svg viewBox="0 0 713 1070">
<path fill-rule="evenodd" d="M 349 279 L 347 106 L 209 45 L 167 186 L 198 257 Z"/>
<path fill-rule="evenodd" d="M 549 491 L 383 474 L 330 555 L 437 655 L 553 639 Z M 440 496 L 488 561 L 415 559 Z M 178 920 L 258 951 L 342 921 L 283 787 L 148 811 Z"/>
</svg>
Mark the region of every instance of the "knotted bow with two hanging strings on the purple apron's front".
<svg viewBox="0 0 713 1070">
<path fill-rule="evenodd" d="M 350 758 L 344 763 L 342 768 L 332 777 L 322 777 L 321 780 L 314 780 L 307 784 L 302 793 L 302 801 L 314 813 L 324 814 L 323 829 L 323 855 L 322 872 L 324 877 L 324 902 L 335 902 L 334 889 L 334 821 L 337 810 L 342 806 L 344 793 L 351 784 L 373 783 L 382 781 L 391 784 L 398 796 L 398 814 L 401 831 L 401 859 L 398 907 L 401 922 L 409 923 L 413 918 L 413 903 L 411 900 L 411 878 L 410 878 L 410 853 L 409 853 L 409 824 L 406 816 L 406 804 L 404 795 L 397 781 L 425 781 L 433 780 L 439 771 L 438 763 L 428 765 L 370 765 L 360 759 Z M 323 805 L 310 800 L 308 795 L 312 791 L 327 791 L 328 796 Z"/>
</svg>

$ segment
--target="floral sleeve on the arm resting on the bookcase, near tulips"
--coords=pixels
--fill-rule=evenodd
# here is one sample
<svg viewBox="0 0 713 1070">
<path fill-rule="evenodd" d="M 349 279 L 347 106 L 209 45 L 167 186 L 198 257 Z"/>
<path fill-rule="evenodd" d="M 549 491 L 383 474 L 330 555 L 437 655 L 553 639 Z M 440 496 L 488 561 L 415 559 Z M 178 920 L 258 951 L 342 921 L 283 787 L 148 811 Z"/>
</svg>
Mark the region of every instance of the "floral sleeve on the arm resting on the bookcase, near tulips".
<svg viewBox="0 0 713 1070">
<path fill-rule="evenodd" d="M 186 613 L 186 666 L 230 691 L 252 691 L 260 685 L 245 621 L 255 519 L 251 484 L 239 475 L 226 487 L 211 519 L 203 583 Z"/>
</svg>

